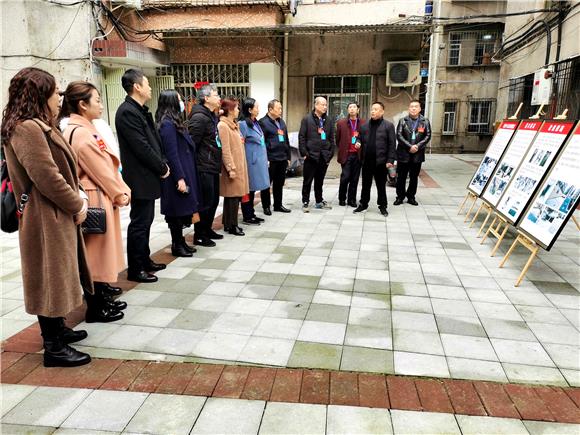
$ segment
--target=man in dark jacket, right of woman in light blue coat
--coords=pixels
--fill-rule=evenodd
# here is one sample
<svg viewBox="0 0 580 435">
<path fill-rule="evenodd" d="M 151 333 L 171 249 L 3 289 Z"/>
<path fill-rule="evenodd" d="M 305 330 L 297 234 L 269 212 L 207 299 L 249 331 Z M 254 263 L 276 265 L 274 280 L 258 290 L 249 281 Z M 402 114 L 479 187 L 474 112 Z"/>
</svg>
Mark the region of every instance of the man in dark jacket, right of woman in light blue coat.
<svg viewBox="0 0 580 435">
<path fill-rule="evenodd" d="M 264 132 L 266 149 L 268 151 L 268 171 L 270 172 L 270 182 L 272 183 L 272 194 L 274 196 L 274 211 L 290 213 L 282 205 L 282 192 L 286 181 L 286 168 L 290 162 L 290 141 L 288 140 L 288 129 L 282 119 L 282 104 L 278 100 L 268 103 L 268 114 L 260 119 L 260 127 Z M 260 192 L 264 214 L 270 216 L 270 189 Z"/>
</svg>

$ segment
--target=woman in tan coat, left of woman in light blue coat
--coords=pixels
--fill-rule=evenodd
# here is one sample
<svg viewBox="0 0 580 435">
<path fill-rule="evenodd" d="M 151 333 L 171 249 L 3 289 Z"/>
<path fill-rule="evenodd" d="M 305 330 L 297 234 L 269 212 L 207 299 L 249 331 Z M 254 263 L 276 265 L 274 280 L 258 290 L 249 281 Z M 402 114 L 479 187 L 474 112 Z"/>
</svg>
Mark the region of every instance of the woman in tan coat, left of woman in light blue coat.
<svg viewBox="0 0 580 435">
<path fill-rule="evenodd" d="M 242 196 L 250 192 L 250 185 L 246 151 L 237 122 L 240 109 L 236 100 L 228 98 L 222 100 L 221 109 L 223 114 L 218 123 L 218 134 L 223 162 L 220 175 L 220 195 L 224 197 L 222 221 L 224 231 L 243 236 L 244 232 L 238 226 L 238 210 Z"/>
</svg>

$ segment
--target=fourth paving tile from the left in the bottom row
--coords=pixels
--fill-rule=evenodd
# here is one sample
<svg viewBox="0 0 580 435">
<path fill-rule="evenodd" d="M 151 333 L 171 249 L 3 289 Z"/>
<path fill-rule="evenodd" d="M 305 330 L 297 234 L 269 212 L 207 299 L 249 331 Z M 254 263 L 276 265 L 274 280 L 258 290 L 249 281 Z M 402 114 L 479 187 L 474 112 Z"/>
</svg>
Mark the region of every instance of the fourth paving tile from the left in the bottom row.
<svg viewBox="0 0 580 435">
<path fill-rule="evenodd" d="M 205 397 L 151 394 L 125 432 L 187 435 L 205 401 Z"/>
</svg>

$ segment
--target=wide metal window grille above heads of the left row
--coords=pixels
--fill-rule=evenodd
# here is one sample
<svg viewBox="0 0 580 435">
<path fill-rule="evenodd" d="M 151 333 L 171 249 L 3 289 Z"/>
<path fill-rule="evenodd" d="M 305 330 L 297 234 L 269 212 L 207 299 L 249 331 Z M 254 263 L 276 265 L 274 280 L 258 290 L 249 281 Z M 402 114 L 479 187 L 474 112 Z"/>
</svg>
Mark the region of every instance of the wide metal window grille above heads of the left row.
<svg viewBox="0 0 580 435">
<path fill-rule="evenodd" d="M 249 65 L 173 64 L 157 68 L 157 75 L 172 75 L 175 89 L 186 100 L 196 99 L 196 86 L 202 82 L 215 84 L 222 97 L 242 100 L 250 93 Z"/>
</svg>

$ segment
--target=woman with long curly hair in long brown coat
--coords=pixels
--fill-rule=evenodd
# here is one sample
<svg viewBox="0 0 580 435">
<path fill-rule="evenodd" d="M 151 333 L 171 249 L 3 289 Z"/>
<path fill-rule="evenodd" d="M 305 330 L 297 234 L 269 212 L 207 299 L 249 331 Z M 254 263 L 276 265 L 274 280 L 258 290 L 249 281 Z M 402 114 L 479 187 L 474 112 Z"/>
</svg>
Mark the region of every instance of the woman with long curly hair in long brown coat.
<svg viewBox="0 0 580 435">
<path fill-rule="evenodd" d="M 18 239 L 26 312 L 38 316 L 46 367 L 87 364 L 69 346 L 87 337 L 64 317 L 93 292 L 80 224 L 88 203 L 79 188 L 76 155 L 56 128 L 60 92 L 54 77 L 24 68 L 10 81 L 1 137 L 17 202 L 28 195 Z"/>
</svg>

